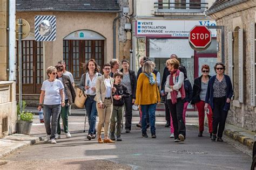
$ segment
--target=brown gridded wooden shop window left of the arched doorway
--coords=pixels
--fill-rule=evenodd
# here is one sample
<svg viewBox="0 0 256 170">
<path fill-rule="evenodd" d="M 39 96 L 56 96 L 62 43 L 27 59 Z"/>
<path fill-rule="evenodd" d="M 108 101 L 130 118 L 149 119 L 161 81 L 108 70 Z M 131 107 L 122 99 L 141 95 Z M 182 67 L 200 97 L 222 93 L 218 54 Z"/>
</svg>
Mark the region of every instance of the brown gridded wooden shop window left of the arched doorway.
<svg viewBox="0 0 256 170">
<path fill-rule="evenodd" d="M 43 42 L 22 41 L 22 90 L 24 94 L 39 94 L 43 83 Z M 16 89 L 18 93 L 18 41 L 16 41 Z"/>
</svg>

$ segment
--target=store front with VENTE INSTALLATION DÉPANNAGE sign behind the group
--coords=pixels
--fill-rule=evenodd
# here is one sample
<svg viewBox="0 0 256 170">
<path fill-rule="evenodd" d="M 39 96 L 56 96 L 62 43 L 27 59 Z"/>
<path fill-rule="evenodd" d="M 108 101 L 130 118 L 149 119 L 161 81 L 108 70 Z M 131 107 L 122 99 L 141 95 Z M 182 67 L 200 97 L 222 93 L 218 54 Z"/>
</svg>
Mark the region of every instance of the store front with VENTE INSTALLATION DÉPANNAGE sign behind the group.
<svg viewBox="0 0 256 170">
<path fill-rule="evenodd" d="M 214 75 L 213 66 L 217 62 L 216 30 L 212 32 L 212 42 L 205 51 L 194 51 L 189 42 L 188 35 L 195 25 L 215 25 L 207 20 L 137 20 L 135 59 L 137 68 L 138 61 L 142 56 L 148 56 L 156 63 L 161 77 L 165 68 L 166 60 L 171 54 L 176 54 L 181 65 L 187 69 L 188 80 L 192 83 L 201 75 L 201 65 L 210 66 L 210 75 Z M 188 106 L 192 108 L 192 106 Z"/>
</svg>

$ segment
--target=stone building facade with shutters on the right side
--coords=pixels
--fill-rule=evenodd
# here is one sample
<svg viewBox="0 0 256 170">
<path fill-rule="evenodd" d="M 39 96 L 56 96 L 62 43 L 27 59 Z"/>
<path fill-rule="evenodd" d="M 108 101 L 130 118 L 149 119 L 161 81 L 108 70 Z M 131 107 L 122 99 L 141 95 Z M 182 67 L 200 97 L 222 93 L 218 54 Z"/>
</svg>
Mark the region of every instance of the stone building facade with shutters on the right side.
<svg viewBox="0 0 256 170">
<path fill-rule="evenodd" d="M 255 59 L 255 1 L 216 1 L 206 14 L 225 26 L 225 65 L 230 75 L 234 96 L 227 122 L 255 130 L 256 59 Z M 220 37 L 220 32 L 218 32 Z M 217 39 L 219 44 L 221 40 Z M 218 53 L 219 61 L 220 52 Z"/>
</svg>

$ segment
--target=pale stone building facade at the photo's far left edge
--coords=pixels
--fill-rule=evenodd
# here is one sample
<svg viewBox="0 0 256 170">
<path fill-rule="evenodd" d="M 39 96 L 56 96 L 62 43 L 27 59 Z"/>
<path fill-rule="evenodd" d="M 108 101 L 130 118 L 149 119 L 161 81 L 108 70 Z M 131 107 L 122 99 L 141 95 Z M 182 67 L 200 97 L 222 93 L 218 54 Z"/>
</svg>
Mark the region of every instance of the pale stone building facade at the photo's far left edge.
<svg viewBox="0 0 256 170">
<path fill-rule="evenodd" d="M 11 44 L 15 42 L 15 1 L 8 2 L 0 1 L 0 138 L 16 132 L 17 120 L 16 90 L 10 63 L 10 59 L 15 58 L 15 46 Z"/>
</svg>

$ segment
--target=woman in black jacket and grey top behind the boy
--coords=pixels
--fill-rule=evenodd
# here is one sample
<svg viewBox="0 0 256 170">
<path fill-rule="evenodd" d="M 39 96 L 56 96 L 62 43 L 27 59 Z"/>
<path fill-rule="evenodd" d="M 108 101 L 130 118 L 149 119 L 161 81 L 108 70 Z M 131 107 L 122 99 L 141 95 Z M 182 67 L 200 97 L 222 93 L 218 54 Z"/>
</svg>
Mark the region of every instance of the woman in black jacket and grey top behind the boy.
<svg viewBox="0 0 256 170">
<path fill-rule="evenodd" d="M 123 73 L 122 84 L 127 87 L 127 90 L 130 94 L 129 97 L 124 98 L 125 102 L 125 132 L 130 133 L 132 127 L 132 105 L 135 102 L 136 98 L 136 87 L 137 79 L 135 72 L 129 69 L 129 61 L 124 59 L 122 60 L 122 69 L 120 72 Z"/>
</svg>

